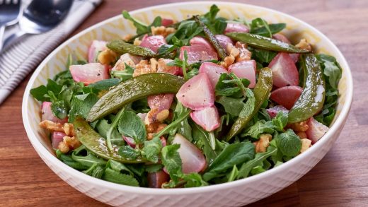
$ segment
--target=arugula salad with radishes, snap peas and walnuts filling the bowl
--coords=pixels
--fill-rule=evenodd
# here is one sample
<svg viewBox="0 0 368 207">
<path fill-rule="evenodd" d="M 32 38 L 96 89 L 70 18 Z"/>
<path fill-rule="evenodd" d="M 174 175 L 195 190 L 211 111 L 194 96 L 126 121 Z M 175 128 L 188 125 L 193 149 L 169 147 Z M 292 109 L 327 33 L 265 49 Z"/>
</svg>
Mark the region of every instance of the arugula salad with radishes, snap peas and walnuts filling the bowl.
<svg viewBox="0 0 368 207">
<path fill-rule="evenodd" d="M 93 40 L 88 59 L 30 93 L 57 158 L 134 187 L 202 187 L 257 175 L 304 153 L 335 116 L 342 69 L 284 23 L 208 13 Z"/>
</svg>

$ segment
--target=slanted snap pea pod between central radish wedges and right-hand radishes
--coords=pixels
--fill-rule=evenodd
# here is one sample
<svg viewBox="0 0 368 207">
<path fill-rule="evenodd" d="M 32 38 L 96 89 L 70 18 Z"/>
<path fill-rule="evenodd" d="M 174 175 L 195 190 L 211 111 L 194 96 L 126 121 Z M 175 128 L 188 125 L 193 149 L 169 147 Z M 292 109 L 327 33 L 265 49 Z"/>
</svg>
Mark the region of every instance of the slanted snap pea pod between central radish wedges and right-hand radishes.
<svg viewBox="0 0 368 207">
<path fill-rule="evenodd" d="M 253 112 L 246 117 L 238 117 L 238 119 L 236 119 L 233 126 L 231 126 L 229 133 L 226 135 L 226 141 L 229 141 L 231 138 L 236 136 L 236 134 L 239 134 L 246 124 L 251 121 L 255 114 L 257 114 L 263 102 L 268 99 L 271 89 L 272 71 L 269 68 L 263 68 L 260 70 L 258 82 L 255 84 L 253 89 L 255 97 L 255 106 Z"/>
</svg>

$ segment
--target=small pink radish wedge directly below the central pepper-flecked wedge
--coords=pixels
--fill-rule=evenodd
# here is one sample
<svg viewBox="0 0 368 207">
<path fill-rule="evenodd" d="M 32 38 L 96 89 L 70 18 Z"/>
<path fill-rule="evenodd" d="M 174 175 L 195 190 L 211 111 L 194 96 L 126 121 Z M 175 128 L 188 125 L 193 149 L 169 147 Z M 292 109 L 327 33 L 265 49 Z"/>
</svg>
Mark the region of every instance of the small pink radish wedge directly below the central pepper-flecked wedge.
<svg viewBox="0 0 368 207">
<path fill-rule="evenodd" d="M 219 112 L 214 106 L 191 112 L 190 117 L 206 131 L 214 131 L 220 126 Z"/>
</svg>

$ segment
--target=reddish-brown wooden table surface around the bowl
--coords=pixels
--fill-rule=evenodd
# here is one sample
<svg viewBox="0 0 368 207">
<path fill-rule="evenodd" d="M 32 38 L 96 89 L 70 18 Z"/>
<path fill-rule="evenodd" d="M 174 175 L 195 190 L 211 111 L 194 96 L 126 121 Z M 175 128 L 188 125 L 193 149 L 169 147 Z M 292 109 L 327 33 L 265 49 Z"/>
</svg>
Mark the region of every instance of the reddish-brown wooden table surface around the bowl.
<svg viewBox="0 0 368 207">
<path fill-rule="evenodd" d="M 122 9 L 175 1 L 106 0 L 74 34 Z M 321 30 L 345 55 L 355 84 L 350 117 L 326 157 L 299 181 L 251 206 L 368 206 L 368 1 L 239 2 L 291 14 Z M 28 79 L 0 107 L 0 206 L 104 206 L 54 175 L 30 145 L 21 117 Z"/>
</svg>

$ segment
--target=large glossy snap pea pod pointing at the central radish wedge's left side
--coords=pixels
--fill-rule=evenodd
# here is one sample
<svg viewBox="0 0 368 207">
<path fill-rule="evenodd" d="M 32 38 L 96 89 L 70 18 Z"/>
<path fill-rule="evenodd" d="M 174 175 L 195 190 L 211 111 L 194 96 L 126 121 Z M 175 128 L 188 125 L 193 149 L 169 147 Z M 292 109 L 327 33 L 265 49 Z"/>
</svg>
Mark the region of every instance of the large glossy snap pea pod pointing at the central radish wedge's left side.
<svg viewBox="0 0 368 207">
<path fill-rule="evenodd" d="M 93 122 L 117 109 L 148 95 L 177 93 L 183 78 L 169 73 L 147 73 L 116 85 L 105 93 L 88 113 L 87 121 Z"/>
</svg>

